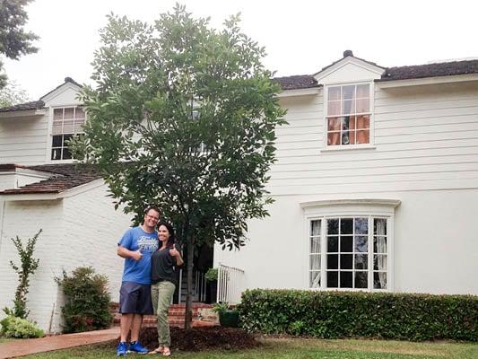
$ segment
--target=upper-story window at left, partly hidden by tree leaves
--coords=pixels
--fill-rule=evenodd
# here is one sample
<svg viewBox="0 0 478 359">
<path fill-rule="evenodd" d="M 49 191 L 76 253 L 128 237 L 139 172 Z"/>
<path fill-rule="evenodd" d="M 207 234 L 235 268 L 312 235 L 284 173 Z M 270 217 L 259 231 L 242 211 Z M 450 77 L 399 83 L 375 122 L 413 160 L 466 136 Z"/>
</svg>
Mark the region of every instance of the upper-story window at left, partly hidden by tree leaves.
<svg viewBox="0 0 478 359">
<path fill-rule="evenodd" d="M 70 160 L 72 153 L 66 142 L 74 135 L 83 132 L 85 115 L 81 107 L 65 107 L 53 109 L 53 129 L 51 143 L 51 159 Z"/>
</svg>

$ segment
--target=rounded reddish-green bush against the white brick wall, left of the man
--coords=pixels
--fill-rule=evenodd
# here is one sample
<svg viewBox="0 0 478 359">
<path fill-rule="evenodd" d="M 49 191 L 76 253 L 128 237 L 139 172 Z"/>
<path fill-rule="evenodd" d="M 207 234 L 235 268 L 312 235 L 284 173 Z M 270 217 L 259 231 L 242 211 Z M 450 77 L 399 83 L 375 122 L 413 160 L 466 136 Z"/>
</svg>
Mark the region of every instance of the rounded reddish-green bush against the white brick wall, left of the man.
<svg viewBox="0 0 478 359">
<path fill-rule="evenodd" d="M 106 276 L 95 274 L 91 267 L 78 267 L 72 276 L 63 271 L 63 278 L 56 278 L 56 283 L 67 300 L 62 308 L 65 333 L 109 328 L 112 316 Z"/>
</svg>

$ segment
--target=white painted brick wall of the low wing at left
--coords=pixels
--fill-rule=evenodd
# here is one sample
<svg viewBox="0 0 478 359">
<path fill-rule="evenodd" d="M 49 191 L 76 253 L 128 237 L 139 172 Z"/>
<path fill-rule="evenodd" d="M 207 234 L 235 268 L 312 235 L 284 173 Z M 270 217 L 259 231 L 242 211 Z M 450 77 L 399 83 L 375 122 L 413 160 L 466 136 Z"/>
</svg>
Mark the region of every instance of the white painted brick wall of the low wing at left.
<svg viewBox="0 0 478 359">
<path fill-rule="evenodd" d="M 10 238 L 18 234 L 26 240 L 39 228 L 43 232 L 34 254 L 40 258 L 39 269 L 31 277 L 28 295 L 31 320 L 46 331 L 61 331 L 64 298 L 54 277 L 63 269 L 71 273 L 76 267 L 94 267 L 97 273 L 108 276 L 111 298 L 118 301 L 124 263 L 116 254 L 117 240 L 131 222 L 129 215 L 115 211 L 106 195 L 107 186 L 101 185 L 63 200 L 6 203 L 0 242 L 0 308 L 13 306 L 17 285 L 8 262 L 20 259 Z"/>
</svg>

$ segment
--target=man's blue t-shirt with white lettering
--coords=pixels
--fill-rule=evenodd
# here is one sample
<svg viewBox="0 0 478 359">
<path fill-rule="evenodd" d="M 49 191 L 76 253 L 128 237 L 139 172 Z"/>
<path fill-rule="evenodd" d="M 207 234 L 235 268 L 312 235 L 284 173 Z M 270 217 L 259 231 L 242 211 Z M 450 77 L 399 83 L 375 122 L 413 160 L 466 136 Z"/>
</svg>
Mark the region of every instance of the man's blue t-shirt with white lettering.
<svg viewBox="0 0 478 359">
<path fill-rule="evenodd" d="M 125 258 L 123 282 L 151 285 L 151 256 L 159 248 L 158 232 L 144 232 L 140 226 L 130 228 L 117 244 L 126 250 L 140 250 L 143 253 L 143 257 L 138 261 Z"/>
</svg>

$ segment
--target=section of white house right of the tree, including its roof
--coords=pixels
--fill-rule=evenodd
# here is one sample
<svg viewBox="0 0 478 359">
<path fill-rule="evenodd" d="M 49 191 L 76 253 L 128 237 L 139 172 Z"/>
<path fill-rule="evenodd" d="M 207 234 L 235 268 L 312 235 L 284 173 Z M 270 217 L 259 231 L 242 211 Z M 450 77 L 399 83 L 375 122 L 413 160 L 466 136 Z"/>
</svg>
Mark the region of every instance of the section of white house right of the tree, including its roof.
<svg viewBox="0 0 478 359">
<path fill-rule="evenodd" d="M 345 51 L 276 81 L 289 126 L 271 216 L 215 265 L 243 271 L 241 289 L 478 294 L 478 60 L 387 68 Z"/>
</svg>

